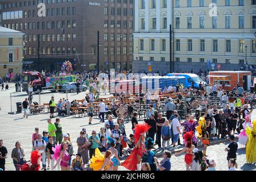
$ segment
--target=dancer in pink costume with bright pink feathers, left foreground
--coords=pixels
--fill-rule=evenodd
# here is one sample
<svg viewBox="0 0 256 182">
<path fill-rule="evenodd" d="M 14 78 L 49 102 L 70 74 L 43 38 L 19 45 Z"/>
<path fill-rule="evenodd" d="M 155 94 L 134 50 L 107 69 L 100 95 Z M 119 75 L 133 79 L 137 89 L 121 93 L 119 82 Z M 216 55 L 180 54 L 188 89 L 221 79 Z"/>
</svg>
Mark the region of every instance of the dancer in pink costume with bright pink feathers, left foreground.
<svg viewBox="0 0 256 182">
<path fill-rule="evenodd" d="M 69 153 L 67 153 L 67 143 L 62 142 L 61 144 L 53 148 L 53 151 L 53 159 L 55 159 L 57 162 L 53 168 L 56 168 L 59 163 L 61 166 L 61 171 L 68 171 L 70 155 Z"/>
</svg>

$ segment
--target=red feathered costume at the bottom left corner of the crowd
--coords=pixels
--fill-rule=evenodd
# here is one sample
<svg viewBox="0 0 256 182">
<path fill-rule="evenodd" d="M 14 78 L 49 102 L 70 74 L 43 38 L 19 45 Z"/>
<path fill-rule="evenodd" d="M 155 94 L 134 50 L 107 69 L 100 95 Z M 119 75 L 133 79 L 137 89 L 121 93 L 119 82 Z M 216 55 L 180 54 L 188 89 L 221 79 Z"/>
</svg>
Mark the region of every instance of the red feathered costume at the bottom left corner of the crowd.
<svg viewBox="0 0 256 182">
<path fill-rule="evenodd" d="M 21 171 L 40 171 L 41 154 L 38 150 L 31 152 L 30 164 L 23 164 Z"/>
</svg>

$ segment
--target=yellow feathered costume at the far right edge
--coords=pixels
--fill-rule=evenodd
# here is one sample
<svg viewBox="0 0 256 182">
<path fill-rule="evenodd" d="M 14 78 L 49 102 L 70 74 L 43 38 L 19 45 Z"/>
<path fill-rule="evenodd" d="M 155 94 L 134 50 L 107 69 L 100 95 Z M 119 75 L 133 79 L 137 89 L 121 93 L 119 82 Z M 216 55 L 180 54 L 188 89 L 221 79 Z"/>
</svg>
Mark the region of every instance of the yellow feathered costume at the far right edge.
<svg viewBox="0 0 256 182">
<path fill-rule="evenodd" d="M 256 120 L 253 121 L 253 129 L 246 127 L 245 132 L 248 136 L 246 144 L 246 161 L 247 163 L 256 162 Z"/>
</svg>

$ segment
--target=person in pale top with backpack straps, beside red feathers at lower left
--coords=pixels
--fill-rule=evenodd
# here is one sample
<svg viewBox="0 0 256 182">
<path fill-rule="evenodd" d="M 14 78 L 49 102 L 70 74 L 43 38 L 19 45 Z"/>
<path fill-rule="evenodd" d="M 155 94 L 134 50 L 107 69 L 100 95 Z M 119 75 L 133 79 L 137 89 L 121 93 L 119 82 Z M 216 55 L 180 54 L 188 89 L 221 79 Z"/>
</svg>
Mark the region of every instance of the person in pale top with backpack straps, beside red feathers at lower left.
<svg viewBox="0 0 256 182">
<path fill-rule="evenodd" d="M 42 164 L 43 164 L 43 167 L 42 169 L 44 171 L 46 171 L 46 154 L 45 154 L 45 147 L 46 147 L 46 142 L 44 140 L 42 140 L 42 135 L 41 134 L 38 134 L 37 135 L 37 140 L 35 140 L 34 142 L 34 148 L 35 150 L 38 150 L 39 153 L 41 154 L 42 156 Z"/>
</svg>

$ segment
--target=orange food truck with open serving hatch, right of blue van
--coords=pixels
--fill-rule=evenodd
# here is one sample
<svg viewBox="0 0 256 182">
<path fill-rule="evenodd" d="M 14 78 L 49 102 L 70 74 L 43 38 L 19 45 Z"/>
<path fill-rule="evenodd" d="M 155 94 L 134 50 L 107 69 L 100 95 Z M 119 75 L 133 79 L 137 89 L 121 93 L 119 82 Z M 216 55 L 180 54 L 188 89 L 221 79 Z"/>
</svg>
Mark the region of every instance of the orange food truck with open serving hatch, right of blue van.
<svg viewBox="0 0 256 182">
<path fill-rule="evenodd" d="M 222 86 L 224 90 L 231 91 L 235 85 L 243 86 L 243 89 L 250 90 L 251 86 L 251 72 L 250 71 L 214 71 L 210 72 L 210 84 Z"/>
</svg>

